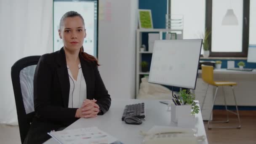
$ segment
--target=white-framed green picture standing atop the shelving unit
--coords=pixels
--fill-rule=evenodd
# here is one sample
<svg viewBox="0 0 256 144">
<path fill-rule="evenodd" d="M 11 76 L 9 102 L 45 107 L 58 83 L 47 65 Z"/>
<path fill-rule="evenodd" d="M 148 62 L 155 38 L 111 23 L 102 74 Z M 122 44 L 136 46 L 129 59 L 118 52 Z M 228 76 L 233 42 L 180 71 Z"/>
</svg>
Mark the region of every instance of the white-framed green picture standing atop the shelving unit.
<svg viewBox="0 0 256 144">
<path fill-rule="evenodd" d="M 151 10 L 139 9 L 139 28 L 153 29 Z"/>
</svg>

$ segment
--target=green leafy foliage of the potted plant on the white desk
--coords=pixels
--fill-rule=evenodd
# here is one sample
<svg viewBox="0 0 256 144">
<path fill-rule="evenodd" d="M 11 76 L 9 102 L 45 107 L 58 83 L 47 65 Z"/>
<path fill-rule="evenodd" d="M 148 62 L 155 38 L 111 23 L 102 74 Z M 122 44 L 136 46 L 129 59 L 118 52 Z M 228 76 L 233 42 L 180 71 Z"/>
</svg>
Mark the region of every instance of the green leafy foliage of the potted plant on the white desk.
<svg viewBox="0 0 256 144">
<path fill-rule="evenodd" d="M 191 105 L 191 109 L 192 109 L 191 114 L 192 115 L 198 114 L 200 109 L 197 106 L 197 103 L 194 101 L 195 94 L 191 93 L 190 91 L 187 92 L 187 90 L 182 90 L 182 91 L 179 91 L 179 95 L 182 97 L 182 100 L 184 101 L 185 104 Z M 180 102 L 181 102 L 181 100 L 180 100 Z"/>
</svg>

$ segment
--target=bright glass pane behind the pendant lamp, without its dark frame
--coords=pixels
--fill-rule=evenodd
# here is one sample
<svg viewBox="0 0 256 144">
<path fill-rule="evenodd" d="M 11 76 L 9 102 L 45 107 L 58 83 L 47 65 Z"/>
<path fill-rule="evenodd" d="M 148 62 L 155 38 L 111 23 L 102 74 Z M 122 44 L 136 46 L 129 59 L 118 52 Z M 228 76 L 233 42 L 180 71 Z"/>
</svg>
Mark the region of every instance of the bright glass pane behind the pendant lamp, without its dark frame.
<svg viewBox="0 0 256 144">
<path fill-rule="evenodd" d="M 243 32 L 243 1 L 232 1 L 229 7 L 229 0 L 213 0 L 212 5 L 212 52 L 242 52 Z M 238 25 L 222 25 L 222 19 L 227 9 L 232 8 L 237 16 Z"/>
</svg>

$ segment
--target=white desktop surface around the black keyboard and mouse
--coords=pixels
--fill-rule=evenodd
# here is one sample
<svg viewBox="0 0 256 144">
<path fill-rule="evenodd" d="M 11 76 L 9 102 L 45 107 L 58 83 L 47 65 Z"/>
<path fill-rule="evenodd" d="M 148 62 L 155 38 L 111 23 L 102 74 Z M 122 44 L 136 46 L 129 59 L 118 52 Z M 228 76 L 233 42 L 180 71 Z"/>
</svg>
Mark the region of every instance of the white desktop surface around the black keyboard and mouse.
<svg viewBox="0 0 256 144">
<path fill-rule="evenodd" d="M 141 125 L 128 125 L 121 120 L 125 104 L 145 103 L 146 120 Z M 205 135 L 202 115 L 199 112 L 197 115 L 198 135 Z M 161 104 L 158 100 L 112 100 L 109 111 L 104 115 L 99 115 L 96 118 L 80 118 L 66 129 L 88 128 L 92 126 L 98 127 L 100 130 L 109 133 L 124 144 L 141 144 L 143 137 L 139 135 L 139 131 L 148 131 L 154 125 L 174 126 L 170 125 L 171 112 L 167 111 L 167 105 Z M 200 141 L 202 144 L 208 144 L 208 140 Z M 58 144 L 54 139 L 49 139 L 45 144 Z"/>
</svg>

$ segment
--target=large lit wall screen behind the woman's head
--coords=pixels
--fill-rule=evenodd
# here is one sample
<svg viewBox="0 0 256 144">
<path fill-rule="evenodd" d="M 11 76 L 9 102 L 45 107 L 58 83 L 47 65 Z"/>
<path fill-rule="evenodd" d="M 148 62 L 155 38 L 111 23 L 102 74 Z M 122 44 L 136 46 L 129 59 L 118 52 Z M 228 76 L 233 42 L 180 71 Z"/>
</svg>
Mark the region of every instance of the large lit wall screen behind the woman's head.
<svg viewBox="0 0 256 144">
<path fill-rule="evenodd" d="M 84 51 L 97 57 L 98 35 L 98 0 L 54 0 L 53 1 L 53 51 L 63 46 L 59 38 L 59 22 L 61 16 L 68 11 L 76 11 L 85 21 L 86 37 L 83 42 Z"/>
</svg>

